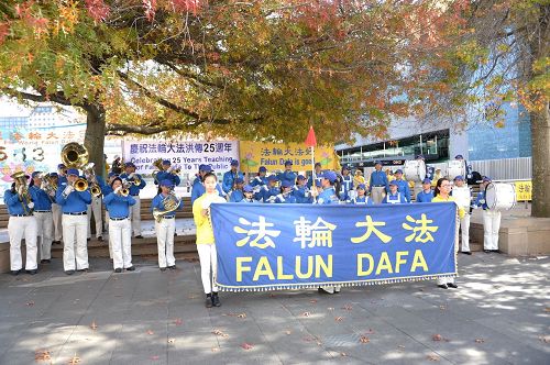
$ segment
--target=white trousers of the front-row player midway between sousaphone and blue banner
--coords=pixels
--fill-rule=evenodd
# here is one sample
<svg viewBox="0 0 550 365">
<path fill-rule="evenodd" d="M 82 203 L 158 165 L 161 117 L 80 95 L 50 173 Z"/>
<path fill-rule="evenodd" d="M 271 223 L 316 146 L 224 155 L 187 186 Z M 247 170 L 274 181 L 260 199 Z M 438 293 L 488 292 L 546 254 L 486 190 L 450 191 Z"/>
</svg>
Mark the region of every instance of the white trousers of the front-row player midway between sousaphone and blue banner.
<svg viewBox="0 0 550 365">
<path fill-rule="evenodd" d="M 109 243 L 114 268 L 132 266 L 132 225 L 130 219 L 109 222 Z"/>
</svg>

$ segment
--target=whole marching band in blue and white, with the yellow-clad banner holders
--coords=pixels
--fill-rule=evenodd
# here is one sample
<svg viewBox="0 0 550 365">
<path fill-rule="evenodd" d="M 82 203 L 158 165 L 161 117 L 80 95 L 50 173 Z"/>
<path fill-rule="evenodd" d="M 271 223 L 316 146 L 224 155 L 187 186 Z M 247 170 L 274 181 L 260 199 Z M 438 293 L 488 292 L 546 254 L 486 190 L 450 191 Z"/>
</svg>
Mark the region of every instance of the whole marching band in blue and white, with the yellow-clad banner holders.
<svg viewBox="0 0 550 365">
<path fill-rule="evenodd" d="M 118 156 L 117 156 L 118 157 Z M 26 245 L 24 269 L 29 274 L 37 273 L 37 263 L 51 262 L 52 244 L 63 240 L 63 264 L 67 275 L 89 269 L 87 239 L 90 235 L 91 214 L 95 217 L 96 237 L 102 241 L 103 222 L 101 206 L 106 206 L 106 228 L 109 232 L 109 251 L 113 261 L 113 270 L 134 270 L 132 265 L 131 240 L 143 239 L 141 224 L 140 191 L 145 188 L 144 178 L 136 173 L 136 166 L 116 158 L 108 174 L 108 181 L 96 175 L 94 164 L 88 163 L 88 152 L 78 143 L 69 143 L 62 150 L 62 164 L 57 173 L 34 172 L 31 177 L 15 173 L 11 177 L 11 189 L 4 193 L 4 203 L 10 214 L 10 263 L 11 273 L 18 275 L 23 269 L 21 241 Z M 468 181 L 475 172 L 461 155 L 449 163 L 448 176 L 437 181 L 433 168 L 425 165 L 424 156 L 406 162 L 404 170 L 397 169 L 395 179 L 389 181 L 382 170 L 382 162 L 375 162 L 375 170 L 365 179 L 361 170 L 352 174 L 352 168 L 343 166 L 341 174 L 322 170 L 315 165 L 311 175 L 298 175 L 293 172 L 293 162 L 285 162 L 285 169 L 278 174 L 268 174 L 261 166 L 256 176 L 249 178 L 239 170 L 239 162 L 231 161 L 231 169 L 223 174 L 218 182 L 211 166 L 200 165 L 191 190 L 191 206 L 197 224 L 197 245 L 202 272 L 202 283 L 208 296 L 207 302 L 219 306 L 212 276 L 216 275 L 215 242 L 210 235 L 209 203 L 212 201 L 255 202 L 255 203 L 316 203 L 316 204 L 378 204 L 410 203 L 413 197 L 417 203 L 430 201 L 453 201 L 458 206 L 458 228 L 461 231 L 460 252 L 470 251 L 470 217 L 472 209 L 483 209 L 485 226 L 485 252 L 498 251 L 498 228 L 502 209 L 510 209 L 515 197 L 509 197 L 509 189 L 483 178 L 477 199 L 473 201 L 472 189 Z M 153 163 L 154 184 L 158 193 L 153 198 L 151 212 L 155 220 L 158 267 L 162 272 L 175 269 L 174 235 L 175 215 L 184 207 L 182 197 L 174 188 L 180 184 L 180 167 L 173 166 L 169 159 Z M 451 175 L 450 175 L 451 174 Z M 453 176 L 454 175 L 454 176 Z M 29 182 L 29 178 L 31 181 Z M 414 195 L 409 181 L 415 181 Z M 213 182 L 212 182 L 213 181 Z M 452 182 L 451 182 L 452 181 Z M 436 192 L 431 186 L 436 182 Z M 410 185 L 413 187 L 413 185 Z M 491 188 L 490 188 L 491 186 Z M 491 191 L 488 190 L 491 189 Z M 498 201 L 498 191 L 507 198 Z M 207 199 L 208 198 L 208 199 Z M 205 208 L 207 207 L 207 208 Z M 199 234 L 199 232 L 201 232 Z M 459 230 L 457 230 L 459 232 Z M 208 250 L 206 247 L 209 247 Z M 202 252 L 201 252 L 202 251 Z M 213 256 L 212 256 L 213 255 Z M 207 280 L 207 275 L 210 277 Z M 210 285 L 208 284 L 210 283 Z M 440 287 L 455 287 L 453 281 L 440 283 Z M 326 292 L 338 292 L 339 287 L 322 287 Z M 216 299 L 212 299 L 216 297 Z"/>
</svg>

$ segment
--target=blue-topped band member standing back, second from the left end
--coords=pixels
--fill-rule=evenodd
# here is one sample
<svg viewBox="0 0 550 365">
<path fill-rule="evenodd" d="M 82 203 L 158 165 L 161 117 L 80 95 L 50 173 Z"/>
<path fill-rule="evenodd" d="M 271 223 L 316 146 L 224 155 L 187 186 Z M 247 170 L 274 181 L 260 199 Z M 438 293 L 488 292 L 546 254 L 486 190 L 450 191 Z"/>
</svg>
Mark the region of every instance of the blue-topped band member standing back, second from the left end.
<svg viewBox="0 0 550 365">
<path fill-rule="evenodd" d="M 34 217 L 36 218 L 36 231 L 38 236 L 38 251 L 41 263 L 50 263 L 52 259 L 52 242 L 54 234 L 54 220 L 52 217 L 52 202 L 55 201 L 55 191 L 43 189 L 42 173 L 32 174 L 29 191 L 34 197 Z"/>
</svg>

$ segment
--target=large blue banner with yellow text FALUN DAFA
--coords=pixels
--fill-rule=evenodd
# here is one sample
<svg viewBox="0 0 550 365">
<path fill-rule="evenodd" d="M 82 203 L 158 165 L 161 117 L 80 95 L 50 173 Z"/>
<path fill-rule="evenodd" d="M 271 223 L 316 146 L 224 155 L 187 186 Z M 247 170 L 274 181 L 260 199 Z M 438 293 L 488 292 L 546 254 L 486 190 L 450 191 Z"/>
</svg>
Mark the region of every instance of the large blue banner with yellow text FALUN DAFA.
<svg viewBox="0 0 550 365">
<path fill-rule="evenodd" d="M 372 285 L 457 275 L 451 202 L 215 203 L 221 290 Z"/>
</svg>

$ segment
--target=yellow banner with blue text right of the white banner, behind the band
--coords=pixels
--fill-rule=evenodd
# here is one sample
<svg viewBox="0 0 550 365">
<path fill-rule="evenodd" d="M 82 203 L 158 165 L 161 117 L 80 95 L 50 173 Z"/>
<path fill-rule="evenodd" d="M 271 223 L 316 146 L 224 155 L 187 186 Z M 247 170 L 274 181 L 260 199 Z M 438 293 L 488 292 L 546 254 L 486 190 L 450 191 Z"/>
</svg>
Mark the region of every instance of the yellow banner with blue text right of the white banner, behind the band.
<svg viewBox="0 0 550 365">
<path fill-rule="evenodd" d="M 314 150 L 315 162 L 321 163 L 322 169 L 340 170 L 339 157 L 332 146 L 317 146 Z M 268 172 L 285 169 L 287 159 L 293 162 L 293 170 L 311 170 L 311 150 L 304 143 L 264 143 L 241 141 L 239 144 L 241 170 L 257 173 L 260 166 Z"/>
</svg>

